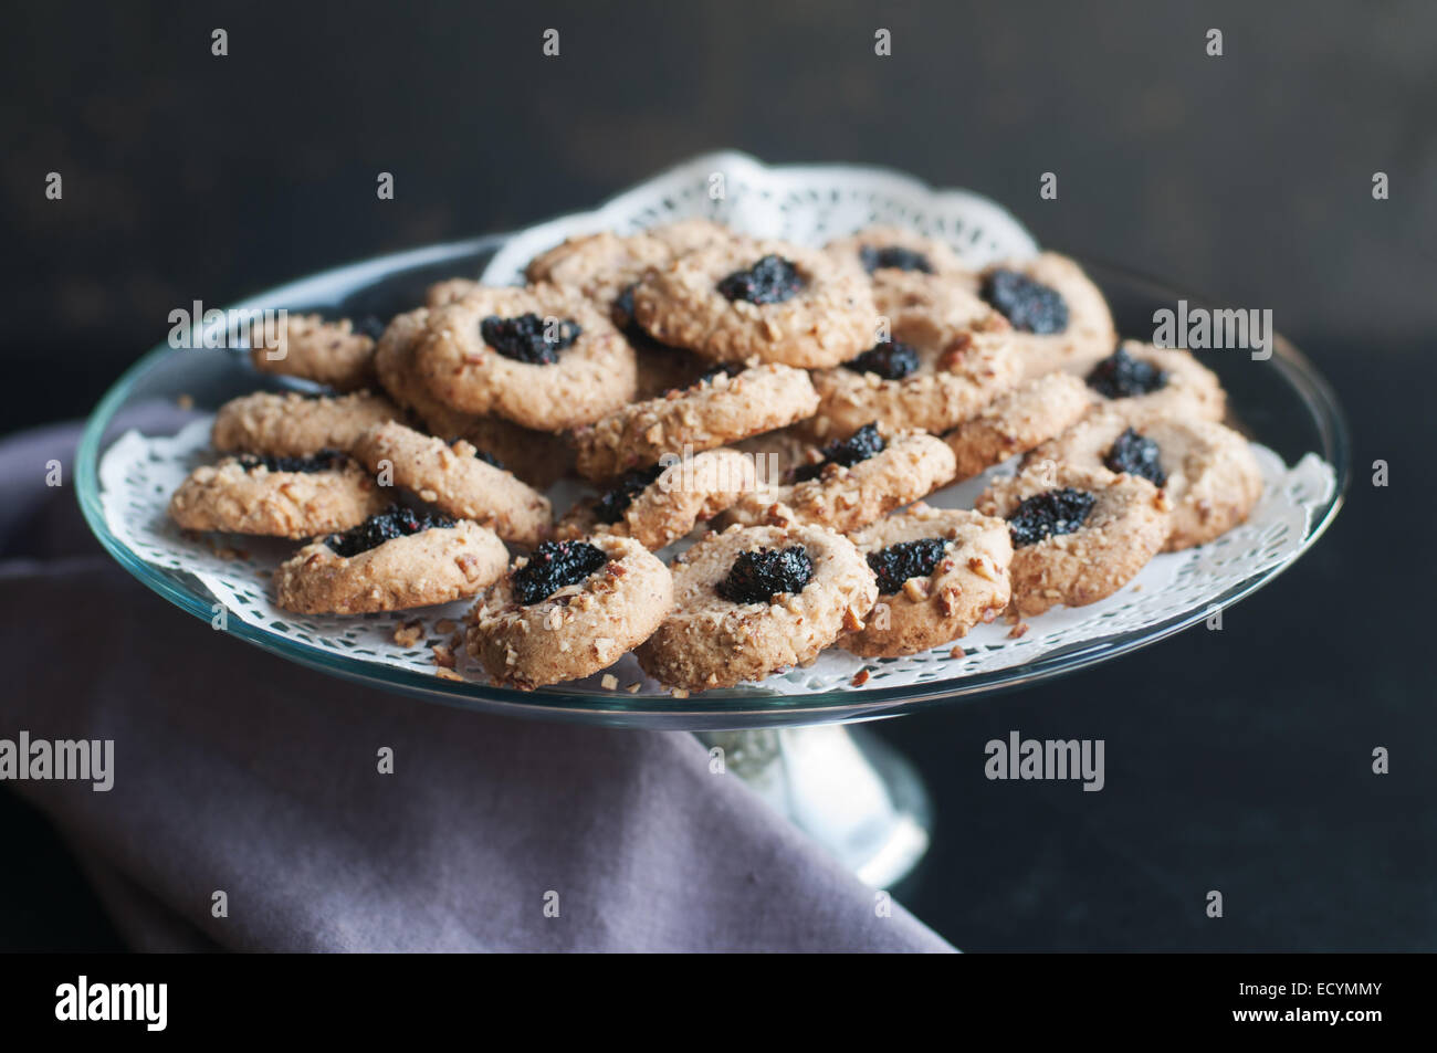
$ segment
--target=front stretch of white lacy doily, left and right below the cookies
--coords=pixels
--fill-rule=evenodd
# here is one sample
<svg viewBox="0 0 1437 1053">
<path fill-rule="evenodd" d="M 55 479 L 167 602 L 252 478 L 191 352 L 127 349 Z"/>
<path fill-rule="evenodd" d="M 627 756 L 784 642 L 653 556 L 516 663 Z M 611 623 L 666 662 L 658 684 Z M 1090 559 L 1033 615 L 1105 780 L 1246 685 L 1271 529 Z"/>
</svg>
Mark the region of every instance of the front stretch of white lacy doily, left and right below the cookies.
<svg viewBox="0 0 1437 1053">
<path fill-rule="evenodd" d="M 193 468 L 214 460 L 210 422 L 210 418 L 197 419 L 172 438 L 131 431 L 106 451 L 99 467 L 101 503 L 115 537 L 148 563 L 193 573 L 226 608 L 227 618 L 240 618 L 266 632 L 351 658 L 434 674 L 437 667 L 430 646 L 445 641 L 445 634 L 434 629 L 435 622 L 460 621 L 471 602 L 359 618 L 292 615 L 274 606 L 270 573 L 295 552 L 296 543 L 239 536 L 191 540 L 181 534 L 167 514 L 170 494 Z M 869 678 L 856 688 L 861 691 L 948 679 L 1020 665 L 1055 648 L 1141 629 L 1200 609 L 1229 588 L 1293 559 L 1308 534 L 1311 511 L 1332 494 L 1332 468 L 1319 457 L 1309 454 L 1296 467 L 1286 468 L 1266 447 L 1253 444 L 1253 453 L 1266 488 L 1249 521 L 1211 544 L 1155 557 L 1128 586 L 1105 600 L 1076 609 L 1059 608 L 1029 619 L 1029 631 L 1017 639 L 1009 636 L 1010 628 L 1003 622 L 977 626 L 961 641 L 961 658 L 953 658 L 950 648 L 943 646 L 865 664 L 846 651 L 832 649 L 809 668 L 769 677 L 763 687 L 779 694 L 854 690 L 852 679 L 864 668 L 869 669 Z M 989 477 L 1002 470 L 993 468 L 981 478 L 941 490 L 928 501 L 941 507 L 971 507 Z M 425 638 L 415 646 L 399 646 L 394 642 L 395 626 L 415 618 L 424 623 Z M 486 682 L 483 671 L 463 658 L 460 672 L 467 679 Z M 631 655 L 609 672 L 618 677 L 619 691 L 638 682 L 642 684 L 641 695 L 664 694 L 658 684 L 644 677 Z M 599 677 L 582 684 L 602 690 Z"/>
</svg>

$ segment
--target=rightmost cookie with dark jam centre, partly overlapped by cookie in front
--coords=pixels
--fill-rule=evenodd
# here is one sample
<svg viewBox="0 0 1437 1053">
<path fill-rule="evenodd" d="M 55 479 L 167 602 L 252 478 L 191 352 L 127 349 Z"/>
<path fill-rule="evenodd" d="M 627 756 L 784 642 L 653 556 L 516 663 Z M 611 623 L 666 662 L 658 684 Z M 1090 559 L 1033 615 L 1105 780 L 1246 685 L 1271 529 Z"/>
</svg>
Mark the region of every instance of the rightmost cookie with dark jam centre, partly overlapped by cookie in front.
<svg viewBox="0 0 1437 1053">
<path fill-rule="evenodd" d="M 1173 523 L 1164 552 L 1204 544 L 1252 514 L 1263 478 L 1247 440 L 1214 421 L 1164 418 L 1134 408 L 1096 409 L 1023 461 L 1142 476 L 1167 491 Z"/>
</svg>

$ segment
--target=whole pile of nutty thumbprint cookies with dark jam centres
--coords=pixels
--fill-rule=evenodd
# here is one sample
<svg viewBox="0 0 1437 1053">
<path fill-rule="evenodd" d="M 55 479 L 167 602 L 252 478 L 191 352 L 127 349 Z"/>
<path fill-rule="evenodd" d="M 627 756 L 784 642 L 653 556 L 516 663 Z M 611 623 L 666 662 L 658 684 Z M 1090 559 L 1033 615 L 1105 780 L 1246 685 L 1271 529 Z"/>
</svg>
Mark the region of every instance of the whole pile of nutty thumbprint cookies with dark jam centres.
<svg viewBox="0 0 1437 1053">
<path fill-rule="evenodd" d="M 1119 343 L 1053 253 L 976 273 L 905 230 L 812 250 L 690 220 L 526 277 L 257 330 L 257 369 L 328 391 L 221 407 L 172 519 L 306 540 L 274 575 L 299 613 L 477 596 L 460 636 L 499 684 L 635 651 L 683 694 L 1092 603 L 1262 493 L 1217 378 Z M 1016 455 L 973 510 L 923 503 Z M 555 520 L 560 478 L 591 493 Z"/>
</svg>

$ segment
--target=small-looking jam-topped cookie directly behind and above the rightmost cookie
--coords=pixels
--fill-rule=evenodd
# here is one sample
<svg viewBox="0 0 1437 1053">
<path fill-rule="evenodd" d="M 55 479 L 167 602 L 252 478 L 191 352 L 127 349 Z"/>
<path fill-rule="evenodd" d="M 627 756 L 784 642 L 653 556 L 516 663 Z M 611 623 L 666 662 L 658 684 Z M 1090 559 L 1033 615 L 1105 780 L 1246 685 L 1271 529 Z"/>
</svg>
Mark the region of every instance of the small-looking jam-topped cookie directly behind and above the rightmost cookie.
<svg viewBox="0 0 1437 1053">
<path fill-rule="evenodd" d="M 1083 375 L 1088 386 L 1114 407 L 1204 421 L 1227 415 L 1227 392 L 1217 374 L 1177 348 L 1124 340 Z"/>
</svg>

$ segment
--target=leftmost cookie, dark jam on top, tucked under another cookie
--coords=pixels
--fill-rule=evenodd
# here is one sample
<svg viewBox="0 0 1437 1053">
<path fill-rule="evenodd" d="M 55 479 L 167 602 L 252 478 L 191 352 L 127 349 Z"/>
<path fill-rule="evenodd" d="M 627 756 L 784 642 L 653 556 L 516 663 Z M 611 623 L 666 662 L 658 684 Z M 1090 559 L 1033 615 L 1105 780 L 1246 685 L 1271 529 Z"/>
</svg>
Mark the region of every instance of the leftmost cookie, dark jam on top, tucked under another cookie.
<svg viewBox="0 0 1437 1053">
<path fill-rule="evenodd" d="M 388 504 L 349 457 L 227 457 L 190 473 L 170 498 L 184 530 L 313 537 L 348 530 Z"/>
</svg>

